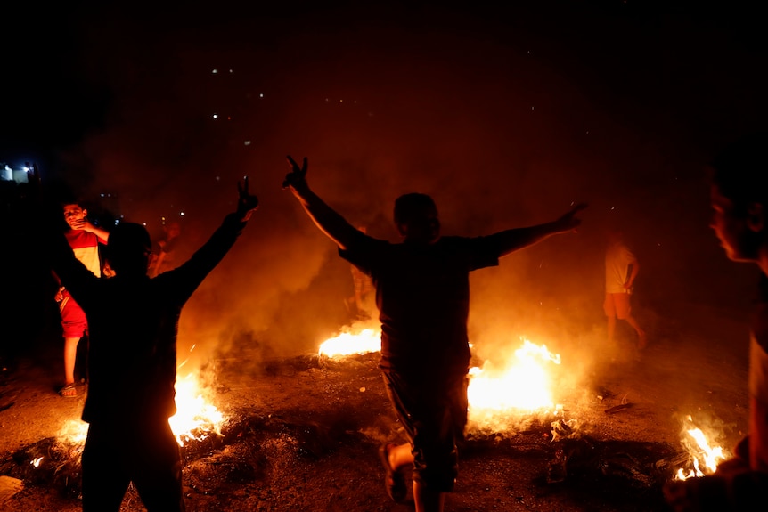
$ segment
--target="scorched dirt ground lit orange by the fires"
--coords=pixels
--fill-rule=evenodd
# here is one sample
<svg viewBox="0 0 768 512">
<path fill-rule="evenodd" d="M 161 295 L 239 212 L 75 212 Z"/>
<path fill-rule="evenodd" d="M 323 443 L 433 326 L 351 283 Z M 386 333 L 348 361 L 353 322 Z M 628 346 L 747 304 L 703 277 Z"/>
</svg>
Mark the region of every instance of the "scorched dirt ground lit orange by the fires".
<svg viewBox="0 0 768 512">
<path fill-rule="evenodd" d="M 661 487 L 688 461 L 682 418 L 692 415 L 731 449 L 748 404 L 747 319 L 692 306 L 667 313 L 653 320 L 641 353 L 626 333 L 617 351 L 576 340 L 602 357 L 579 382 L 559 381 L 560 416 L 510 419 L 503 432 L 470 429 L 446 512 L 666 510 Z M 568 373 L 569 354 L 560 371 Z M 78 420 L 84 389 L 75 399 L 55 394 L 58 357 L 44 351 L 4 362 L 0 478 L 23 488 L 0 495 L 0 510 L 81 507 L 79 447 L 57 435 Z M 248 360 L 242 348 L 215 362 L 217 406 L 228 421 L 222 436 L 182 449 L 188 510 L 413 509 L 388 500 L 382 485 L 377 447 L 402 433 L 376 354 L 298 355 L 241 371 Z M 58 462 L 33 467 L 38 454 Z M 144 510 L 133 489 L 122 510 Z"/>
</svg>

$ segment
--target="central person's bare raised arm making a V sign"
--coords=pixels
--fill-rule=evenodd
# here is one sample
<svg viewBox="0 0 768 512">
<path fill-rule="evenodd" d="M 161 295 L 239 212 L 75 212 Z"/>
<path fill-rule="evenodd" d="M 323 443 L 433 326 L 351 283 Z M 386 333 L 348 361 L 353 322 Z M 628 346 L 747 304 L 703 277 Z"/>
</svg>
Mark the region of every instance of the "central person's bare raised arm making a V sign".
<svg viewBox="0 0 768 512">
<path fill-rule="evenodd" d="M 309 189 L 309 185 L 306 183 L 306 157 L 301 167 L 298 167 L 296 161 L 290 156 L 288 163 L 291 166 L 291 171 L 285 176 L 282 187 L 290 188 L 298 202 L 304 207 L 306 214 L 320 228 L 320 231 L 336 242 L 339 248 L 347 249 L 357 235 L 357 230 Z"/>
</svg>

